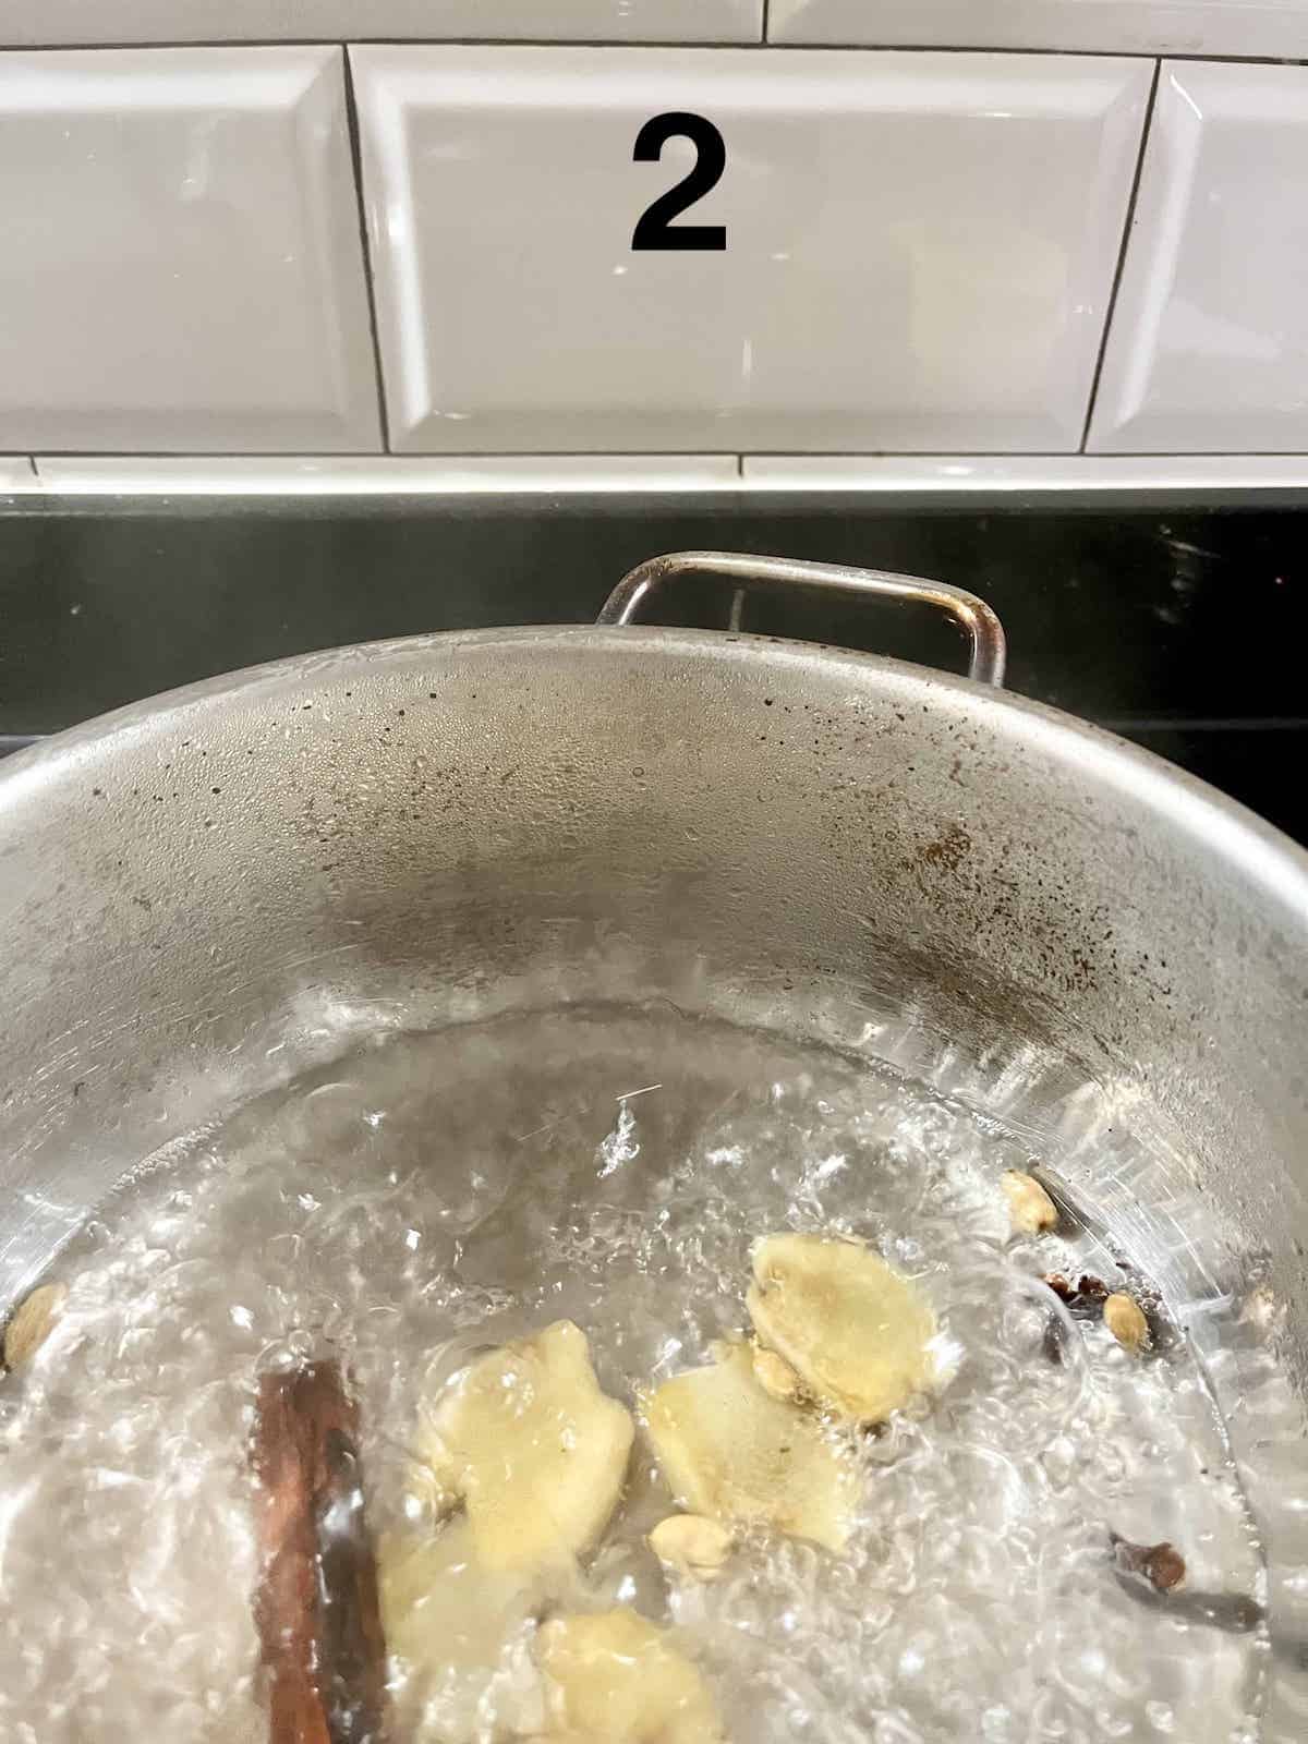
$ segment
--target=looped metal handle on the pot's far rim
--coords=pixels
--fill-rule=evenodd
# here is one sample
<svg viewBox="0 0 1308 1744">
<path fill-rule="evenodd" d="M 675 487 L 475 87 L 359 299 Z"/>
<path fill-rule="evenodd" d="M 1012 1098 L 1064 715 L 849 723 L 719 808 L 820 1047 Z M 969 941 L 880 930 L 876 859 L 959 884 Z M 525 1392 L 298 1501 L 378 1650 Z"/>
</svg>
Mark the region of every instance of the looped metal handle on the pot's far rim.
<svg viewBox="0 0 1308 1744">
<path fill-rule="evenodd" d="M 739 628 L 739 603 L 746 588 L 799 588 L 804 593 L 844 593 L 889 600 L 919 600 L 938 605 L 971 638 L 968 677 L 978 684 L 1003 684 L 1008 642 L 1003 624 L 975 593 L 947 581 L 895 576 L 884 569 L 851 569 L 846 563 L 807 563 L 788 556 L 745 556 L 738 551 L 671 551 L 651 556 L 624 576 L 603 603 L 596 624 L 630 624 L 645 600 L 675 576 L 720 576 L 736 584 L 732 628 Z"/>
</svg>

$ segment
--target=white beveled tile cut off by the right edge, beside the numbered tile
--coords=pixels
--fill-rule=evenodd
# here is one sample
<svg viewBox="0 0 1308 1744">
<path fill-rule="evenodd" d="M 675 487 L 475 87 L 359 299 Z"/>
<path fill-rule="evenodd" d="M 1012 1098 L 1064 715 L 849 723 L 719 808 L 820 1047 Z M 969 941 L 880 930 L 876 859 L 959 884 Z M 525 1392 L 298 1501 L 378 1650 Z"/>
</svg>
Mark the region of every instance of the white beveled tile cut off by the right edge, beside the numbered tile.
<svg viewBox="0 0 1308 1744">
<path fill-rule="evenodd" d="M 1308 66 L 1168 63 L 1090 446 L 1308 450 Z"/>
</svg>

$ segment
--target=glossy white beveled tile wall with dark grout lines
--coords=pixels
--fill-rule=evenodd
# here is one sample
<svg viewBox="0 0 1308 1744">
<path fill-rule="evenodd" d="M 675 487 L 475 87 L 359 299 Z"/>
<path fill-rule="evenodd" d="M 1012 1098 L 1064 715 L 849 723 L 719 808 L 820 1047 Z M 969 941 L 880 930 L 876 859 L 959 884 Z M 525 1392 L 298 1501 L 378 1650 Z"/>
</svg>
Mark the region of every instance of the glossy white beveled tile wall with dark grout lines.
<svg viewBox="0 0 1308 1744">
<path fill-rule="evenodd" d="M 1308 0 L 9 0 L 0 494 L 1308 476 L 1305 187 Z"/>
</svg>

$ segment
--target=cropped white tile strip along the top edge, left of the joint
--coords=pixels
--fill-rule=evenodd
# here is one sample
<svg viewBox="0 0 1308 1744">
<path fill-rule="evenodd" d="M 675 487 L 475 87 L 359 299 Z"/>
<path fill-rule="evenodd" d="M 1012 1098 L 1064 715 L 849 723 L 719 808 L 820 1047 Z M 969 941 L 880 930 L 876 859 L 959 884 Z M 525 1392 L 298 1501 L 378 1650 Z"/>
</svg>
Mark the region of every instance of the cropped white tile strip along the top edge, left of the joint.
<svg viewBox="0 0 1308 1744">
<path fill-rule="evenodd" d="M 759 42 L 764 0 L 0 0 L 0 44 Z"/>
</svg>

